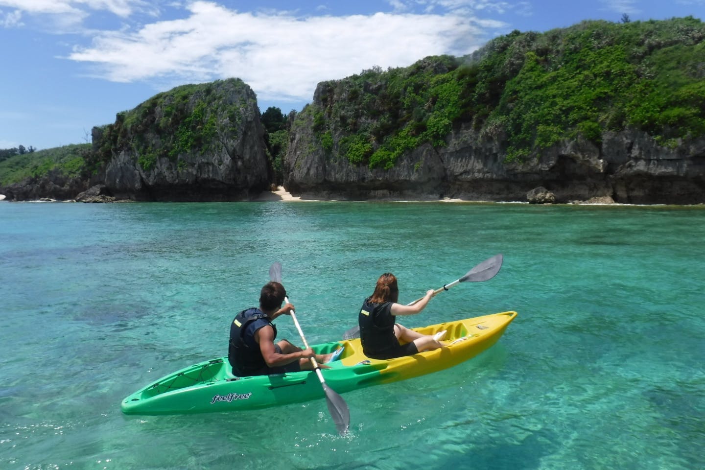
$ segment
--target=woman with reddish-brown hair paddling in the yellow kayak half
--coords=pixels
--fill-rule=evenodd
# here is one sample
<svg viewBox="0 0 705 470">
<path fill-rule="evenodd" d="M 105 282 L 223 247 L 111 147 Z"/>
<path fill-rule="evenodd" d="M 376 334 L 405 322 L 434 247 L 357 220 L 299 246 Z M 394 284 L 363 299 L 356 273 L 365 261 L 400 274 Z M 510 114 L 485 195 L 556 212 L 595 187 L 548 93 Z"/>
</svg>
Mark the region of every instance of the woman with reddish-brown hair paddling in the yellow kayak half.
<svg viewBox="0 0 705 470">
<path fill-rule="evenodd" d="M 434 290 L 431 289 L 413 305 L 398 304 L 396 277 L 392 273 L 379 276 L 374 293 L 365 299 L 358 318 L 364 355 L 372 359 L 392 359 L 443 347 L 440 341 L 445 331 L 422 335 L 396 323 L 397 315 L 414 315 L 422 311 L 433 295 Z M 400 341 L 405 344 L 400 344 Z"/>
</svg>

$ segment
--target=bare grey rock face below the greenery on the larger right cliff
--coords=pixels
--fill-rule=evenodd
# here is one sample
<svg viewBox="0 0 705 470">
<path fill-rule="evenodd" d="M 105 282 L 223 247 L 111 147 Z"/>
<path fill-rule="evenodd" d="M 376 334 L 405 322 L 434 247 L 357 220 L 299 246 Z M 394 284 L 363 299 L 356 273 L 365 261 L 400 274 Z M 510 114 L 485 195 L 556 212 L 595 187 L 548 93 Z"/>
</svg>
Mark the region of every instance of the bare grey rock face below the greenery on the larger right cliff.
<svg viewBox="0 0 705 470">
<path fill-rule="evenodd" d="M 311 106 L 324 107 L 320 96 L 317 90 Z M 338 98 L 326 95 L 329 102 Z M 325 149 L 314 128 L 314 113 L 296 116 L 285 159 L 285 187 L 302 197 L 526 201 L 527 192 L 544 186 L 558 203 L 594 197 L 627 204 L 705 202 L 705 137 L 662 147 L 643 131 L 604 132 L 600 145 L 561 140 L 532 159 L 505 162 L 503 132 L 467 124 L 445 145 L 422 144 L 384 169 L 350 163 L 335 146 Z"/>
</svg>

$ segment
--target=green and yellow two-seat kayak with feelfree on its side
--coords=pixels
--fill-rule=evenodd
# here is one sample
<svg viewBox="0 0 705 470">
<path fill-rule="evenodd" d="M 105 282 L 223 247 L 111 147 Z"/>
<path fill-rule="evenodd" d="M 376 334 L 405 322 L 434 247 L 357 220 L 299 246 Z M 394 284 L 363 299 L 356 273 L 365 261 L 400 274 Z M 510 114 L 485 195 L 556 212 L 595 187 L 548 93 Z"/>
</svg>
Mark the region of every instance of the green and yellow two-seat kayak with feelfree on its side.
<svg viewBox="0 0 705 470">
<path fill-rule="evenodd" d="M 344 347 L 340 359 L 321 369 L 328 386 L 338 393 L 448 369 L 488 349 L 501 337 L 515 311 L 413 328 L 425 335 L 446 330 L 442 347 L 395 359 L 369 359 L 360 339 L 312 345 L 319 354 Z M 324 397 L 315 371 L 271 376 L 233 376 L 228 357 L 200 362 L 160 378 L 123 400 L 125 414 L 190 414 L 235 412 L 307 402 Z"/>
</svg>

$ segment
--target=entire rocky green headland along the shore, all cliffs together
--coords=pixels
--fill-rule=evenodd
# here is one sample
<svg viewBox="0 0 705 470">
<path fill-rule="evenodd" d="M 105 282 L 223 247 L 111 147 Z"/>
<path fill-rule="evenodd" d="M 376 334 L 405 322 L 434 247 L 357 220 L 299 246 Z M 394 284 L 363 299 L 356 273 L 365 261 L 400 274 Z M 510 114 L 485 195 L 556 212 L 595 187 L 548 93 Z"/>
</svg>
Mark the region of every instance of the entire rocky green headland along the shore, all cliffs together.
<svg viewBox="0 0 705 470">
<path fill-rule="evenodd" d="M 92 144 L 0 159 L 0 193 L 704 203 L 704 41 L 692 17 L 514 31 L 321 82 L 287 115 L 262 113 L 237 78 L 183 85 L 93 128 Z"/>
</svg>

